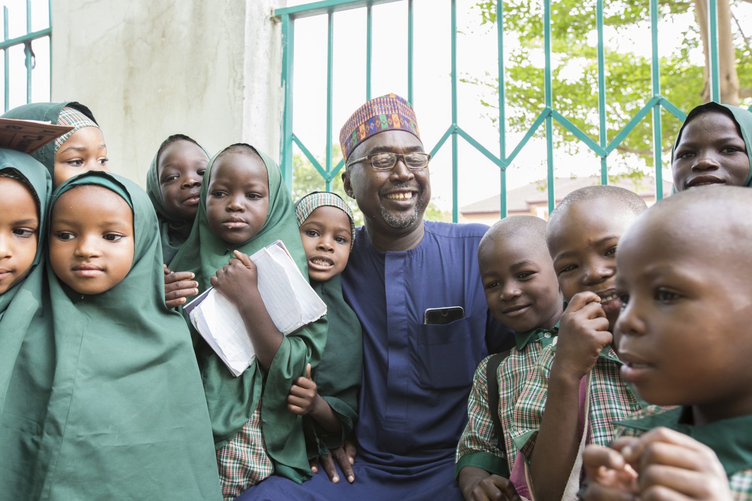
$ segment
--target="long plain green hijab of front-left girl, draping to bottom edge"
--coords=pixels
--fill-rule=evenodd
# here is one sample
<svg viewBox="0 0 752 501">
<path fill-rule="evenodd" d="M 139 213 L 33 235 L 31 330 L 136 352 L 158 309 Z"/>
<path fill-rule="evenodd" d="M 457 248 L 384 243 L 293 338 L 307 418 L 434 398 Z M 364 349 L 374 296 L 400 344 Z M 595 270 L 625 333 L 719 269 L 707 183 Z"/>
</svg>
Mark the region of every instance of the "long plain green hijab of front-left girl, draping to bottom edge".
<svg viewBox="0 0 752 501">
<path fill-rule="evenodd" d="M 211 424 L 190 334 L 165 306 L 159 227 L 146 192 L 88 172 L 76 186 L 120 195 L 133 210 L 135 252 L 122 282 L 82 295 L 51 267 L 56 368 L 44 424 L 41 499 L 221 499 Z"/>
</svg>

